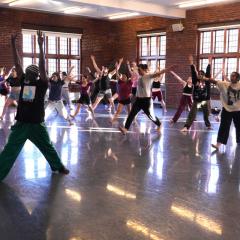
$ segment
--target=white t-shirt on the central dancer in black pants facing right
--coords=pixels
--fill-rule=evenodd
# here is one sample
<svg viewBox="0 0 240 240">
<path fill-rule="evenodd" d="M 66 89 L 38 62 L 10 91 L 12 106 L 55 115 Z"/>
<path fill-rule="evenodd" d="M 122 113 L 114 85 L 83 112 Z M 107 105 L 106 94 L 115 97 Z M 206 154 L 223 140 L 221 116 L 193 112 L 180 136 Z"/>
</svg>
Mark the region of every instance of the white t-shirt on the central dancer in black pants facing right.
<svg viewBox="0 0 240 240">
<path fill-rule="evenodd" d="M 141 76 L 138 79 L 138 85 L 137 85 L 137 93 L 136 96 L 139 98 L 144 98 L 144 97 L 151 97 L 152 95 L 152 83 L 153 83 L 153 78 L 151 74 Z"/>
</svg>

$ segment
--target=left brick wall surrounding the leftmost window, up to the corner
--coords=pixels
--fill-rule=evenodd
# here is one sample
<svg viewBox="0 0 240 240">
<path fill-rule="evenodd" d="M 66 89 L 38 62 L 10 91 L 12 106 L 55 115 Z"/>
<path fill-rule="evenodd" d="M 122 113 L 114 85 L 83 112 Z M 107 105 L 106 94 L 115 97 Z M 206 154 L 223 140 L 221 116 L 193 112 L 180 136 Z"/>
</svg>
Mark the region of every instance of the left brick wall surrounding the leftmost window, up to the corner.
<svg viewBox="0 0 240 240">
<path fill-rule="evenodd" d="M 0 8 L 0 66 L 7 66 L 10 68 L 13 65 L 10 37 L 12 33 L 21 33 L 23 23 L 38 26 L 44 25 L 59 28 L 83 29 L 82 69 L 85 69 L 86 66 L 91 66 L 89 56 L 92 53 L 96 55 L 100 66 L 109 64 L 109 62 L 112 61 L 112 49 L 115 44 L 115 35 L 111 34 L 111 22 L 85 17 L 71 17 Z M 19 40 L 19 50 L 22 49 L 21 46 L 21 40 Z"/>
</svg>

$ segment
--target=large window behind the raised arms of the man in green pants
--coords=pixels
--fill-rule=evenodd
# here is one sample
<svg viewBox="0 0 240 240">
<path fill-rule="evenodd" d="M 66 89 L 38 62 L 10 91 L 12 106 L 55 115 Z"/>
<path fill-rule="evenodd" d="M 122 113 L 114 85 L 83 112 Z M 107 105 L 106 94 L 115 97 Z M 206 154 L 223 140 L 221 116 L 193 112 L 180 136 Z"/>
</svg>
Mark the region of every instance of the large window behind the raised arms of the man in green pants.
<svg viewBox="0 0 240 240">
<path fill-rule="evenodd" d="M 38 64 L 39 48 L 35 30 L 22 30 L 23 67 Z M 56 71 L 67 72 L 69 66 L 75 66 L 74 74 L 80 75 L 81 35 L 45 32 L 44 51 L 49 76 Z"/>
</svg>

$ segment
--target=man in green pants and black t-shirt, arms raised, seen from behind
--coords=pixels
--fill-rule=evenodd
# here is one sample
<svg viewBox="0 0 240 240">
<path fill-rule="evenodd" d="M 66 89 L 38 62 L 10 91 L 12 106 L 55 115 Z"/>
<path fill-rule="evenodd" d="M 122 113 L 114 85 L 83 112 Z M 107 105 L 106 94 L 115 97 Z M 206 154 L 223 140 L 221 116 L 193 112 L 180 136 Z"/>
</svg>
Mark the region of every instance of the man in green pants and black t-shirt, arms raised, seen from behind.
<svg viewBox="0 0 240 240">
<path fill-rule="evenodd" d="M 30 65 L 24 74 L 16 49 L 17 35 L 12 35 L 13 57 L 17 76 L 21 82 L 21 91 L 15 118 L 17 122 L 12 126 L 8 142 L 0 154 L 0 181 L 7 176 L 27 139 L 42 152 L 52 171 L 69 173 L 53 147 L 44 124 L 44 97 L 48 88 L 48 77 L 43 53 L 44 37 L 40 31 L 37 32 L 37 36 L 40 51 L 39 67 Z"/>
</svg>

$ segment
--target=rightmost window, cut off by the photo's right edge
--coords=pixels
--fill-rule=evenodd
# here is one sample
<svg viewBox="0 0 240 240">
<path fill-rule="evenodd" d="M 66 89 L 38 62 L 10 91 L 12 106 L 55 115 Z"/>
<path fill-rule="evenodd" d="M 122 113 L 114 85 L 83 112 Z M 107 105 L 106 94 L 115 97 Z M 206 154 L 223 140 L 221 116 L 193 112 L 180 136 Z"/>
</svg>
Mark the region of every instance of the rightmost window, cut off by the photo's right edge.
<svg viewBox="0 0 240 240">
<path fill-rule="evenodd" d="M 200 29 L 199 67 L 205 70 L 208 58 L 212 58 L 212 75 L 221 69 L 230 77 L 233 71 L 240 71 L 239 28 Z M 222 79 L 222 74 L 218 75 Z"/>
</svg>

